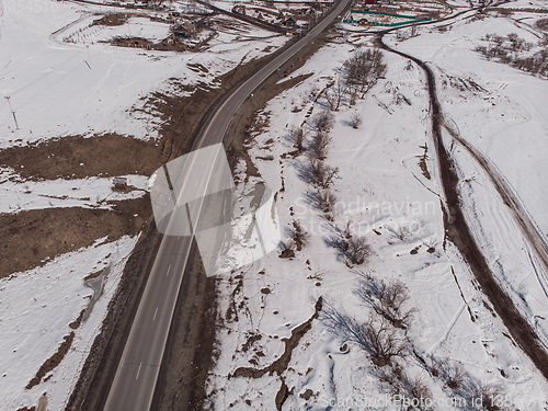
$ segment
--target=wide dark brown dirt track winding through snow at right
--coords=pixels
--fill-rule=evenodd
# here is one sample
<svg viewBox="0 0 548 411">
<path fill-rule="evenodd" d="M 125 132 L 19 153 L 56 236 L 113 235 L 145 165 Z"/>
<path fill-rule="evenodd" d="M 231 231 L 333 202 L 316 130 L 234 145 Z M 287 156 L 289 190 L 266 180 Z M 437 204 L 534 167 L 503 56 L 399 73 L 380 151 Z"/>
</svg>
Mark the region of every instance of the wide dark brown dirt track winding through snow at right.
<svg viewBox="0 0 548 411">
<path fill-rule="evenodd" d="M 481 253 L 481 250 L 470 231 L 468 224 L 466 222 L 466 218 L 463 213 L 463 205 L 458 193 L 459 180 L 457 176 L 456 167 L 443 144 L 442 126 L 444 126 L 444 118 L 442 109 L 437 101 L 434 73 L 432 72 L 430 67 L 419 58 L 396 50 L 383 43 L 383 35 L 385 33 L 387 32 L 380 33 L 378 36 L 379 46 L 387 52 L 397 54 L 401 57 L 414 61 L 419 67 L 423 69 L 426 75 L 432 117 L 432 134 L 434 138 L 434 147 L 436 149 L 441 180 L 446 199 L 446 209 L 444 210 L 446 237 L 459 249 L 460 253 L 470 266 L 476 279 L 480 284 L 481 290 L 486 294 L 486 296 L 493 305 L 494 310 L 501 317 L 504 326 L 512 334 L 512 338 L 528 355 L 528 357 L 532 359 L 538 370 L 545 376 L 545 378 L 548 379 L 548 354 L 544 350 L 541 343 L 539 342 L 537 335 L 535 334 L 527 320 L 523 318 L 515 309 L 512 299 L 506 295 L 506 293 L 504 293 L 504 290 L 495 279 L 486 258 Z M 479 160 L 479 158 L 476 158 L 476 160 Z M 491 173 L 489 167 L 486 169 L 486 171 L 490 174 L 493 183 L 495 183 L 496 186 L 496 183 L 499 183 L 498 176 Z M 498 186 L 496 189 L 499 190 Z M 502 190 L 502 192 L 499 191 L 499 193 L 505 202 L 505 196 L 511 194 L 504 190 Z M 506 205 L 514 210 L 516 216 L 521 216 L 522 218 L 527 217 L 526 215 L 522 214 L 521 209 L 513 208 L 515 206 L 513 202 L 509 202 L 506 203 Z M 518 225 L 520 227 L 522 227 L 521 221 L 518 221 Z M 533 235 L 532 232 L 529 233 Z"/>
</svg>

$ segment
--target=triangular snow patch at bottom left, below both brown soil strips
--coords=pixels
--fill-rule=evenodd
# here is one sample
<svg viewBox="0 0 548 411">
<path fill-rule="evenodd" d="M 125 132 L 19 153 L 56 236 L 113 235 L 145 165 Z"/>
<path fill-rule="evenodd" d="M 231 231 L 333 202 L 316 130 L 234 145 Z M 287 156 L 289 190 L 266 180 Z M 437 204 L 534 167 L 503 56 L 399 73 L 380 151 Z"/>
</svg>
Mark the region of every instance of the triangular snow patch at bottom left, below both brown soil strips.
<svg viewBox="0 0 548 411">
<path fill-rule="evenodd" d="M 60 255 L 43 267 L 13 274 L 0 282 L 2 410 L 36 406 L 44 392 L 47 392 L 48 410 L 64 409 L 136 241 L 137 238 L 129 237 L 115 242 L 99 239 L 92 247 Z M 93 295 L 83 278 L 109 264 L 111 272 L 103 295 L 89 318 L 78 329 L 70 328 Z M 70 332 L 75 332 L 75 338 L 65 358 L 41 384 L 25 389 Z"/>
</svg>

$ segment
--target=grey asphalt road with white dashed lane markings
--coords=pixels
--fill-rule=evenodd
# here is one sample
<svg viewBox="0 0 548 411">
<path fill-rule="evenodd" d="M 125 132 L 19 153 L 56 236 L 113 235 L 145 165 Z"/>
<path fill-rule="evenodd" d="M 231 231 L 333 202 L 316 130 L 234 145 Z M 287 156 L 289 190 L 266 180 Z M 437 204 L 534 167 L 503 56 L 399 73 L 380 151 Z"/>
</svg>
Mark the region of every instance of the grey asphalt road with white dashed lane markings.
<svg viewBox="0 0 548 411">
<path fill-rule="evenodd" d="M 341 14 L 350 0 L 341 0 L 306 36 L 286 48 L 276 58 L 241 83 L 205 126 L 195 149 L 221 142 L 237 110 L 276 69 L 295 56 Z M 204 170 L 203 187 L 209 184 L 210 172 Z M 191 187 L 195 181 L 184 182 Z M 190 255 L 192 237 L 164 236 L 150 277 L 116 369 L 104 410 L 149 410 L 163 357 L 175 302 Z"/>
</svg>

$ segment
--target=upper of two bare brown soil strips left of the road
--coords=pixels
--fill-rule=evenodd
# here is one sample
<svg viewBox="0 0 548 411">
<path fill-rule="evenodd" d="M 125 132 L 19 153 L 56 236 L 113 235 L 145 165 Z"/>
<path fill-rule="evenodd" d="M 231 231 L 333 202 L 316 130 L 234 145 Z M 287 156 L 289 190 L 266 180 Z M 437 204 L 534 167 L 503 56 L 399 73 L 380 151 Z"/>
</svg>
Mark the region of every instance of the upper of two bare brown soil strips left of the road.
<svg viewBox="0 0 548 411">
<path fill-rule="evenodd" d="M 150 175 L 161 164 L 159 142 L 117 134 L 68 136 L 0 151 L 0 165 L 11 167 L 24 179 L 33 180 Z"/>
</svg>

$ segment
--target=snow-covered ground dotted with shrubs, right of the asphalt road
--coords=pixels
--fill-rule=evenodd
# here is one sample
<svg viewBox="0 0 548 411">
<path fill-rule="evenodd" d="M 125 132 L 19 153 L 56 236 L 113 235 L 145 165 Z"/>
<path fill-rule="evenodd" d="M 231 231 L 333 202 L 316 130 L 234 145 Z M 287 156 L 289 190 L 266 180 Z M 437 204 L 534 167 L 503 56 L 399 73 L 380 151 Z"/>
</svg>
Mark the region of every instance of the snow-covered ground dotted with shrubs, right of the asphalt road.
<svg viewBox="0 0 548 411">
<path fill-rule="evenodd" d="M 484 61 L 473 52 L 486 33 L 506 35 L 509 31 L 518 28 L 505 19 L 475 23 L 461 19 L 444 34 L 421 28 L 406 42 L 397 44 L 396 36 L 387 41 L 436 69 L 445 114 L 507 179 L 546 232 L 546 80 Z M 308 138 L 315 134 L 311 119 L 324 106 L 313 103 L 310 91 L 322 90 L 334 79 L 352 50 L 347 44 L 323 47 L 295 73 L 313 76 L 262 111 L 270 125 L 250 144 L 261 178 L 250 182 L 264 181 L 277 192 L 282 226 L 289 231 L 297 219 L 310 239 L 292 260 L 274 253 L 231 277 L 219 278 L 224 327 L 218 333 L 219 357 L 209 377 L 210 403 L 218 410 L 275 409 L 274 399 L 284 397 L 281 386 L 285 384 L 284 410 L 400 410 L 401 403 L 391 396 L 393 387 L 380 381 L 379 370 L 366 353 L 330 332 L 322 313 L 312 320 L 285 369 L 254 376 L 250 372 L 279 365 L 276 361 L 287 349 L 284 339 L 312 318 L 319 297 L 323 310 L 335 308 L 366 322 L 372 310 L 355 290 L 367 274 L 399 279 L 408 287 L 407 307 L 415 312 L 406 336 L 419 357 L 447 361 L 466 370 L 460 383 L 465 388 L 459 391 L 426 373 L 416 355 L 399 361 L 410 379 L 418 378 L 430 389 L 435 409 L 484 409 L 481 391 L 499 387 L 499 403 L 507 409 L 546 410 L 547 381 L 509 338 L 458 250 L 452 243 L 443 247 L 442 187 L 425 79 L 407 59 L 385 53 L 386 79 L 356 105 L 343 103 L 334 113 L 330 133 L 333 142 L 326 161 L 339 168 L 332 187 L 336 195 L 334 224 L 344 228 L 351 221 L 354 235 L 366 237 L 372 255 L 362 266 L 350 269 L 327 244 L 333 227 L 307 196 L 311 187 L 299 176 L 307 160 L 290 155 L 295 147 L 288 136 L 292 127 L 304 127 Z M 486 91 L 453 89 L 447 76 L 471 78 Z M 398 99 L 398 93 L 410 104 Z M 363 119 L 357 129 L 350 126 L 354 113 Z M 449 138 L 446 142 L 450 145 Z M 431 179 L 419 164 L 424 146 Z M 452 152 L 464 179 L 467 217 L 491 269 L 540 339 L 546 339 L 547 273 L 535 261 L 490 181 L 458 146 Z"/>
</svg>

